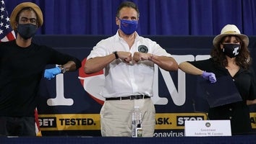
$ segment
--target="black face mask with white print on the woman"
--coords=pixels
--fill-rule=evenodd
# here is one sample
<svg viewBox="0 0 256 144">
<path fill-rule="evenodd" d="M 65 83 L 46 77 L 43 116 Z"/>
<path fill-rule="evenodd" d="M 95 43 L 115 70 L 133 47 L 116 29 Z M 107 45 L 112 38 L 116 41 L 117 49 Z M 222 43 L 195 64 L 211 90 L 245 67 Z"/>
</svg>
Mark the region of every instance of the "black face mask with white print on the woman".
<svg viewBox="0 0 256 144">
<path fill-rule="evenodd" d="M 239 44 L 223 44 L 223 53 L 228 55 L 229 58 L 234 58 L 236 55 L 239 55 L 239 50 L 241 45 Z"/>
</svg>

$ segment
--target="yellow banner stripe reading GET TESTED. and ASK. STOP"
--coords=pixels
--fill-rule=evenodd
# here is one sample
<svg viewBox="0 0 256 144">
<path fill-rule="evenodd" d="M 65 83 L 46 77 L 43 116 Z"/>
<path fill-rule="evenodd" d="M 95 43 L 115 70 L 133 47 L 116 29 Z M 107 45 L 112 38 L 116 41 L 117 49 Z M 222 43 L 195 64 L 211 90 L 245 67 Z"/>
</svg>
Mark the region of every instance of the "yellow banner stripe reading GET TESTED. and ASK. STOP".
<svg viewBox="0 0 256 144">
<path fill-rule="evenodd" d="M 101 130 L 100 114 L 39 114 L 40 130 Z M 250 113 L 256 128 L 256 112 Z M 155 130 L 184 129 L 185 120 L 207 120 L 206 113 L 157 113 Z"/>
</svg>

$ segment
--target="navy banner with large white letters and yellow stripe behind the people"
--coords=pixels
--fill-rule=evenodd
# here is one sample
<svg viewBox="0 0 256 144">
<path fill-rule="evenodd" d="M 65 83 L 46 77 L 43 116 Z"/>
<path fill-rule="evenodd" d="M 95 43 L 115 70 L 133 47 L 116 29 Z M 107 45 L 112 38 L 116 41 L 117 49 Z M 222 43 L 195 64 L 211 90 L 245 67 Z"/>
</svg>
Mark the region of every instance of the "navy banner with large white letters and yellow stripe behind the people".
<svg viewBox="0 0 256 144">
<path fill-rule="evenodd" d="M 100 110 L 104 98 L 103 71 L 85 74 L 83 66 L 90 50 L 107 35 L 38 35 L 34 41 L 48 45 L 82 61 L 79 71 L 59 74 L 48 81 L 43 78 L 39 91 L 39 123 L 42 135 L 101 136 Z M 213 37 L 145 36 L 155 40 L 178 63 L 209 58 Z M 252 58 L 256 37 L 249 37 Z M 48 66 L 51 68 L 54 66 Z M 254 68 L 256 68 L 254 66 Z M 155 66 L 153 97 L 155 104 L 155 137 L 184 136 L 185 120 L 207 120 L 208 102 L 202 93 L 198 76 L 182 71 L 168 72 Z M 252 127 L 256 129 L 256 107 L 250 106 Z"/>
</svg>

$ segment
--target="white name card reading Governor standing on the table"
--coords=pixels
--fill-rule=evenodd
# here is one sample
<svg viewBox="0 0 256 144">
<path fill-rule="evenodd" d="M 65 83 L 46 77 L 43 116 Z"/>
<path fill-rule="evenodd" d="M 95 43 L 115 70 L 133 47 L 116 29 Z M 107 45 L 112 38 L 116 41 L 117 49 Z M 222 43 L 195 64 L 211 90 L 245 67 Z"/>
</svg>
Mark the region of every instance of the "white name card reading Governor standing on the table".
<svg viewBox="0 0 256 144">
<path fill-rule="evenodd" d="M 185 136 L 231 136 L 230 120 L 186 120 Z"/>
</svg>

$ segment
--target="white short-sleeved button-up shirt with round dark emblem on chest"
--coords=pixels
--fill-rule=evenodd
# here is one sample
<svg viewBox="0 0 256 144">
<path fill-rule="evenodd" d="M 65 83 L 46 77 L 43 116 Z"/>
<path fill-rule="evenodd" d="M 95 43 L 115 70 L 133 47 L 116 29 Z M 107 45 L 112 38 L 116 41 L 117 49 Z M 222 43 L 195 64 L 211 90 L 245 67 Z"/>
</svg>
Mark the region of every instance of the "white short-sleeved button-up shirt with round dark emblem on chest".
<svg viewBox="0 0 256 144">
<path fill-rule="evenodd" d="M 156 42 L 140 37 L 137 32 L 135 33 L 135 43 L 131 49 L 116 32 L 116 35 L 98 42 L 88 55 L 88 59 L 110 55 L 114 51 L 130 52 L 133 56 L 133 53 L 138 52 L 140 45 L 145 45 L 148 48 L 148 53 L 153 55 L 171 57 L 171 54 L 167 53 Z M 124 63 L 121 59 L 117 59 L 106 66 L 104 75 L 106 81 L 101 95 L 105 98 L 130 95 L 153 96 L 154 63 L 150 60 L 142 60 L 139 63 Z"/>
</svg>

